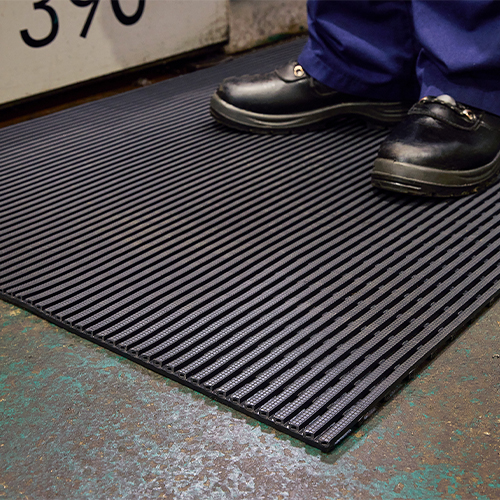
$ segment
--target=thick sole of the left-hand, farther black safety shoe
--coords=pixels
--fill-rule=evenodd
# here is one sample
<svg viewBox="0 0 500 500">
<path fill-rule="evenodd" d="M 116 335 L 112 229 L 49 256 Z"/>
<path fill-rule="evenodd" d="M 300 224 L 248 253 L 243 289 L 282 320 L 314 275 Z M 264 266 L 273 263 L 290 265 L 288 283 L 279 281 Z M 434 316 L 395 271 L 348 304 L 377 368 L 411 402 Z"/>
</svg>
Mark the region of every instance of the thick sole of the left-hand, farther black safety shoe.
<svg viewBox="0 0 500 500">
<path fill-rule="evenodd" d="M 210 112 L 219 123 L 245 132 L 280 134 L 317 130 L 339 116 L 360 116 L 378 125 L 389 126 L 400 122 L 409 106 L 395 102 L 360 102 L 327 106 L 314 111 L 287 115 L 268 115 L 237 108 L 217 94 L 210 101 Z"/>
</svg>

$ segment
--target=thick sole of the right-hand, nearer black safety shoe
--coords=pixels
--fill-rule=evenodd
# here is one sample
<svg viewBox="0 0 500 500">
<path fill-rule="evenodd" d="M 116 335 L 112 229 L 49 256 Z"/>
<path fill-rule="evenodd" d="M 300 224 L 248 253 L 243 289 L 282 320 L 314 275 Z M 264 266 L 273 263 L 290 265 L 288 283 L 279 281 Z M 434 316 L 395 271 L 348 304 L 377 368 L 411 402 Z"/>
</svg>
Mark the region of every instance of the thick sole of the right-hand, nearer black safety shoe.
<svg viewBox="0 0 500 500">
<path fill-rule="evenodd" d="M 495 183 L 500 173 L 500 152 L 480 168 L 449 171 L 377 158 L 372 185 L 377 188 L 420 196 L 465 196 Z"/>
</svg>

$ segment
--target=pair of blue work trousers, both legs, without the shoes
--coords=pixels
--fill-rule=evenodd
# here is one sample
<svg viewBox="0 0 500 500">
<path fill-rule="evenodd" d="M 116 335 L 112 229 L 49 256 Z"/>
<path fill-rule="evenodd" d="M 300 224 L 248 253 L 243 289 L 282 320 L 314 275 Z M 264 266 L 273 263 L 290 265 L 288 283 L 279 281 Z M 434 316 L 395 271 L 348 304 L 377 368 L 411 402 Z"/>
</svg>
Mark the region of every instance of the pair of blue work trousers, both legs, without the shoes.
<svg viewBox="0 0 500 500">
<path fill-rule="evenodd" d="M 500 1 L 308 0 L 307 73 L 388 101 L 449 94 L 500 115 Z"/>
</svg>

